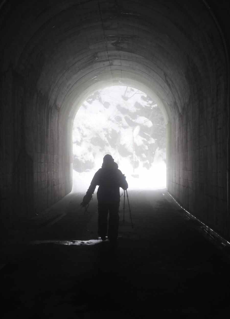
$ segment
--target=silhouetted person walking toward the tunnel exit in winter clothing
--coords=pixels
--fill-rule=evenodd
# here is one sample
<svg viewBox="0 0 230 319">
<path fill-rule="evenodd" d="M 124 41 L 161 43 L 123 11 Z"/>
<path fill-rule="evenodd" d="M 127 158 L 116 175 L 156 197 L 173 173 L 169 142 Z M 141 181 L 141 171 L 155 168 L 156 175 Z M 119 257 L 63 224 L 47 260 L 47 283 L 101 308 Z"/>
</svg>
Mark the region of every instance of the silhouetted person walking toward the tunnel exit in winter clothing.
<svg viewBox="0 0 230 319">
<path fill-rule="evenodd" d="M 125 175 L 118 169 L 117 163 L 111 155 L 107 154 L 103 158 L 102 168 L 94 175 L 86 195 L 83 197 L 81 205 L 84 207 L 89 204 L 96 186 L 98 201 L 98 235 L 104 241 L 107 233 L 107 216 L 109 212 L 108 239 L 111 246 L 116 246 L 118 227 L 119 227 L 119 205 L 120 187 L 128 188 Z"/>
</svg>

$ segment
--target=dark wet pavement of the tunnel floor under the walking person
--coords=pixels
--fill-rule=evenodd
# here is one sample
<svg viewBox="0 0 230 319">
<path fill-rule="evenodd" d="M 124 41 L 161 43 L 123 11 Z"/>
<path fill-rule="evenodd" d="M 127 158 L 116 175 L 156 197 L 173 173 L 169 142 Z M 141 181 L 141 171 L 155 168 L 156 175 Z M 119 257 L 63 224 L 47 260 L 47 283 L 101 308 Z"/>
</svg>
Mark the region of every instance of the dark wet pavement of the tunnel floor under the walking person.
<svg viewBox="0 0 230 319">
<path fill-rule="evenodd" d="M 2 236 L 2 318 L 226 318 L 228 245 L 166 190 L 123 198 L 117 249 L 97 237 L 97 200 L 69 194 Z M 95 197 L 95 196 L 94 196 Z"/>
</svg>

